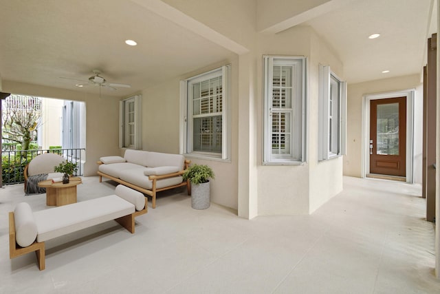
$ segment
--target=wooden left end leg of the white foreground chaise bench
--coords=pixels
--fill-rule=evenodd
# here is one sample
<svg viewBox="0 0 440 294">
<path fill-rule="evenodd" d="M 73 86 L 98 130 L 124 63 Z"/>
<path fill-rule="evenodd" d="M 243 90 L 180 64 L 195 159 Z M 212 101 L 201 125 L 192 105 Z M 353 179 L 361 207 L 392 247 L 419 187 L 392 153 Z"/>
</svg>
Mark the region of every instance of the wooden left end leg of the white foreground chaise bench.
<svg viewBox="0 0 440 294">
<path fill-rule="evenodd" d="M 21 247 L 15 240 L 15 219 L 14 211 L 9 213 L 9 258 L 17 258 L 18 256 L 35 251 L 36 259 L 39 261 L 39 269 L 45 269 L 45 242 L 34 242 L 27 247 Z"/>
</svg>

